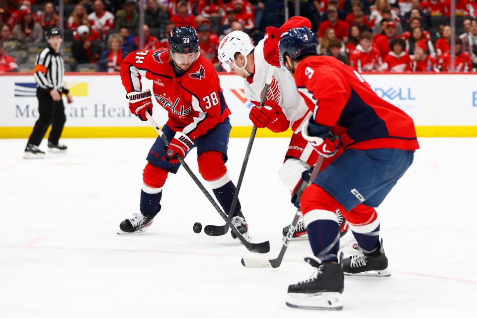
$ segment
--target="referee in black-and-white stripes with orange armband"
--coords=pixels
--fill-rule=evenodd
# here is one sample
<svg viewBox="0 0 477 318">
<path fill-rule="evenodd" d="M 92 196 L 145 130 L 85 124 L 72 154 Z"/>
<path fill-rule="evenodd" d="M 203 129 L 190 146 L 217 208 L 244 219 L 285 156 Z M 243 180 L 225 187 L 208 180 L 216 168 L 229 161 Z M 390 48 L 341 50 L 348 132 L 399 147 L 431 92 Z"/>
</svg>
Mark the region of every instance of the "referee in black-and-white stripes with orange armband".
<svg viewBox="0 0 477 318">
<path fill-rule="evenodd" d="M 49 45 L 38 55 L 34 69 L 35 80 L 38 84 L 36 97 L 38 98 L 40 117 L 28 139 L 23 156 L 25 159 L 45 157 L 45 153 L 38 146 L 50 125 L 48 151 L 65 152 L 67 149 L 65 145 L 59 144 L 60 135 L 66 122 L 65 106 L 61 94 L 66 94 L 69 104 L 73 102 L 73 98 L 64 80 L 65 67 L 60 55 L 60 47 L 63 42 L 61 30 L 52 28 L 47 37 Z"/>
</svg>

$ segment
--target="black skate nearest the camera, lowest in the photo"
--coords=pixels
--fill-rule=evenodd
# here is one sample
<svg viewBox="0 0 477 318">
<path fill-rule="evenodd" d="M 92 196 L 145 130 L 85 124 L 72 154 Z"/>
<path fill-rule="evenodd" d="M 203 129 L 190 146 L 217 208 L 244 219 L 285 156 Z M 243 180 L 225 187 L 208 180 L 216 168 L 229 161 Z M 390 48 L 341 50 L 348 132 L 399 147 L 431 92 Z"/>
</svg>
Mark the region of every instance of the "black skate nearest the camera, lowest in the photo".
<svg viewBox="0 0 477 318">
<path fill-rule="evenodd" d="M 344 288 L 344 276 L 341 265 L 320 263 L 306 257 L 305 261 L 315 267 L 308 280 L 288 286 L 287 306 L 303 309 L 341 310 L 341 293 Z"/>
</svg>

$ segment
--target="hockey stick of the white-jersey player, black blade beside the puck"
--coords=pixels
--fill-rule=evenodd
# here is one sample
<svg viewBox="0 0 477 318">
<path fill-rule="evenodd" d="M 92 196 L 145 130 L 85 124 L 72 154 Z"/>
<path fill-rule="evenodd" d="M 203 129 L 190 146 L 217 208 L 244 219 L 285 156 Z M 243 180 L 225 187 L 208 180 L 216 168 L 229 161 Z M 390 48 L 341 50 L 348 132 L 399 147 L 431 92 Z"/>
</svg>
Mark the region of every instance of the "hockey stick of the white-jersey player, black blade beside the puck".
<svg viewBox="0 0 477 318">
<path fill-rule="evenodd" d="M 268 70 L 267 79 L 265 81 L 265 87 L 263 88 L 262 97 L 258 107 L 263 107 L 263 104 L 265 103 L 267 93 L 268 93 L 268 87 L 270 87 L 270 83 L 272 82 L 273 70 L 275 70 L 274 66 L 271 66 L 270 69 Z M 237 181 L 237 188 L 234 193 L 234 198 L 232 199 L 232 205 L 230 206 L 229 219 L 232 219 L 232 216 L 234 215 L 234 212 L 235 212 L 235 207 L 237 206 L 237 201 L 239 200 L 239 191 L 242 185 L 243 175 L 245 174 L 245 169 L 248 164 L 248 158 L 250 157 L 250 152 L 252 151 L 253 141 L 255 140 L 256 133 L 257 133 L 257 127 L 253 126 L 252 133 L 250 134 L 250 139 L 248 140 L 248 146 L 245 152 L 245 158 L 243 158 L 242 168 L 240 170 L 240 175 L 239 175 L 239 181 Z M 204 228 L 205 234 L 214 236 L 214 237 L 225 235 L 227 234 L 228 231 L 229 231 L 229 227 L 227 226 L 227 224 L 222 226 L 207 225 Z"/>
</svg>

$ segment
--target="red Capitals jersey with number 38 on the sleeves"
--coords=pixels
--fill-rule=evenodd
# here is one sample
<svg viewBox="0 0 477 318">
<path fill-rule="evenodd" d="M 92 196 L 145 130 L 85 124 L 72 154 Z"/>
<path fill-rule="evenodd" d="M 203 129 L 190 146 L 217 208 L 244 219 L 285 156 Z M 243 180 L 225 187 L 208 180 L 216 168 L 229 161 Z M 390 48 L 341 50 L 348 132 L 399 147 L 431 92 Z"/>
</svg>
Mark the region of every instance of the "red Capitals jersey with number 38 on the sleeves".
<svg viewBox="0 0 477 318">
<path fill-rule="evenodd" d="M 156 101 L 169 113 L 167 126 L 194 141 L 231 114 L 219 76 L 202 55 L 182 76 L 176 77 L 167 50 L 139 50 L 121 63 L 126 92 L 142 91 L 141 78 L 153 80 Z"/>
</svg>

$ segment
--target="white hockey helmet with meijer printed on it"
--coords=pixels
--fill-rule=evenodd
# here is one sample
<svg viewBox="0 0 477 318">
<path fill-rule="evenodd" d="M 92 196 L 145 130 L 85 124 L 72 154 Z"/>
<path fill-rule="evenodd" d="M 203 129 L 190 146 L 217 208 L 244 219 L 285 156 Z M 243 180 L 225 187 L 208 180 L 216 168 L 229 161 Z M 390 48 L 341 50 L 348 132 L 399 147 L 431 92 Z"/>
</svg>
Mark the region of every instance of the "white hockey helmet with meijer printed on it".
<svg viewBox="0 0 477 318">
<path fill-rule="evenodd" d="M 235 67 L 238 70 L 242 70 L 246 76 L 250 76 L 250 73 L 245 70 L 245 66 L 247 65 L 247 55 L 254 48 L 255 47 L 253 46 L 250 37 L 245 32 L 237 30 L 227 34 L 222 41 L 220 41 L 217 52 L 219 61 L 222 63 L 222 68 L 227 73 L 230 73 L 232 71 L 232 67 Z M 239 52 L 245 58 L 245 64 L 241 68 L 235 64 L 234 55 L 237 52 Z"/>
</svg>

